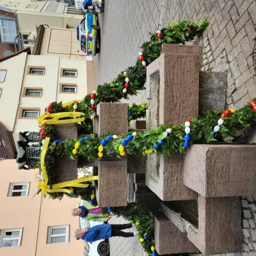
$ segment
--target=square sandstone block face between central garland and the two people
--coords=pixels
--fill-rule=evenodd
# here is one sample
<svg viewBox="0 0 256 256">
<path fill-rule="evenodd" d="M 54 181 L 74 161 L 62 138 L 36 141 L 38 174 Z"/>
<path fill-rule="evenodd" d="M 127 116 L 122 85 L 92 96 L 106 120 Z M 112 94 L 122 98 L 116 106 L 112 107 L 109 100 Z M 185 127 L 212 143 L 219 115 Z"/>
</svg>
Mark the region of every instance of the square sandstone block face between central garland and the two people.
<svg viewBox="0 0 256 256">
<path fill-rule="evenodd" d="M 127 205 L 127 160 L 99 161 L 98 188 L 99 207 Z"/>
</svg>

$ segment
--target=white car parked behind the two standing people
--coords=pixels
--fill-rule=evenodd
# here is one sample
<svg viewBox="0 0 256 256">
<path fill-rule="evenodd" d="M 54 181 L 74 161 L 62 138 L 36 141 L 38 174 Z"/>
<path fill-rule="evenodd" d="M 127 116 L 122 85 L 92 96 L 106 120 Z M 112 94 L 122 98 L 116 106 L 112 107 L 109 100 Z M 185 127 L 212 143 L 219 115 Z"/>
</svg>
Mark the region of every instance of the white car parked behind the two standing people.
<svg viewBox="0 0 256 256">
<path fill-rule="evenodd" d="M 80 205 L 83 205 L 83 200 L 81 200 Z M 80 217 L 80 228 L 90 228 L 95 225 L 103 224 L 102 221 L 86 221 Z M 95 241 L 92 244 L 85 243 L 84 244 L 84 256 L 109 256 L 110 255 L 110 247 L 109 247 L 109 239 L 102 239 L 99 241 Z"/>
</svg>

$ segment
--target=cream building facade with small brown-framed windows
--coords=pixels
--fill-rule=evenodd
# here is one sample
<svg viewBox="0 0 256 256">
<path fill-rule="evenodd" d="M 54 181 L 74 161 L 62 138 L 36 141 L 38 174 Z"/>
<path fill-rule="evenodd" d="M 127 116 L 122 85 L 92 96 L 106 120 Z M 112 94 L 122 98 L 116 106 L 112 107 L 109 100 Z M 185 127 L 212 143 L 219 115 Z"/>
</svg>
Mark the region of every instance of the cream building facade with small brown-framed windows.
<svg viewBox="0 0 256 256">
<path fill-rule="evenodd" d="M 50 102 L 82 99 L 86 61 L 23 51 L 0 62 L 1 122 L 14 134 L 38 131 L 36 117 Z"/>
</svg>

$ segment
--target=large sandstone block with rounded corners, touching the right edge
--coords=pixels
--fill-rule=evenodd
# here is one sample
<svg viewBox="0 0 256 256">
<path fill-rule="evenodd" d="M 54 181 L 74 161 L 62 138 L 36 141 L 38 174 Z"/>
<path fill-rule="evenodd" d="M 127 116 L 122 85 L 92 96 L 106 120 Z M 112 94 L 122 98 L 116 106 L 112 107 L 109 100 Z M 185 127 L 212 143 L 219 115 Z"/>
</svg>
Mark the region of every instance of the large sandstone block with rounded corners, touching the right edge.
<svg viewBox="0 0 256 256">
<path fill-rule="evenodd" d="M 256 195 L 255 145 L 193 145 L 184 184 L 206 197 Z"/>
</svg>

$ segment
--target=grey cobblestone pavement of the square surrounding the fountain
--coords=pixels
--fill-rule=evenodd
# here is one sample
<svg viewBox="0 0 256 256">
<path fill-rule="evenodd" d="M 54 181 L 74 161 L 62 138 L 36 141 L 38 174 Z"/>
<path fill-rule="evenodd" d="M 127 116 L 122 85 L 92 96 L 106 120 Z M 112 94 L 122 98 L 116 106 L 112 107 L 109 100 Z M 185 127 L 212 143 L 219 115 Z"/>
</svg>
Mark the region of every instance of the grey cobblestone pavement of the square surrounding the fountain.
<svg viewBox="0 0 256 256">
<path fill-rule="evenodd" d="M 119 72 L 133 65 L 140 45 L 148 40 L 148 32 L 156 32 L 172 21 L 200 22 L 204 17 L 207 17 L 210 25 L 200 40 L 200 45 L 204 46 L 202 70 L 228 72 L 227 105 L 229 108 L 241 108 L 256 97 L 252 58 L 255 0 L 106 0 L 105 12 L 99 17 L 101 47 L 100 54 L 94 59 L 95 81 L 97 84 L 109 82 Z M 147 101 L 145 91 L 122 101 L 144 103 Z M 244 207 L 243 256 L 256 254 L 253 252 L 256 250 L 256 209 L 255 201 L 249 198 L 253 197 L 241 201 Z M 248 207 L 244 206 L 246 202 Z M 111 256 L 143 255 L 136 239 L 115 239 L 111 241 Z M 230 253 L 232 255 L 241 253 Z"/>
</svg>

